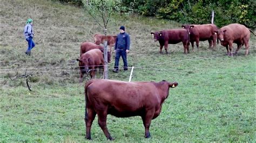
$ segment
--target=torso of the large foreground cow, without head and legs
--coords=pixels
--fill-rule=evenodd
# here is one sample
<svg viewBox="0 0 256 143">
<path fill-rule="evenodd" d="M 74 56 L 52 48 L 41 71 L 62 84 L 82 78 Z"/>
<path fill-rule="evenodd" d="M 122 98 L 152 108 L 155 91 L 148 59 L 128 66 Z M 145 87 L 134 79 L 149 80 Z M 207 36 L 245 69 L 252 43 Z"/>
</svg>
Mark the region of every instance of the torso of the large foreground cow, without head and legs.
<svg viewBox="0 0 256 143">
<path fill-rule="evenodd" d="M 93 80 L 87 87 L 87 98 L 93 108 L 104 104 L 109 106 L 110 114 L 136 116 L 145 106 L 160 104 L 156 87 L 150 82 L 122 82 L 113 80 Z M 98 99 L 98 100 L 96 100 Z M 134 115 L 131 115 L 134 112 Z M 114 115 L 117 116 L 118 115 Z"/>
</svg>

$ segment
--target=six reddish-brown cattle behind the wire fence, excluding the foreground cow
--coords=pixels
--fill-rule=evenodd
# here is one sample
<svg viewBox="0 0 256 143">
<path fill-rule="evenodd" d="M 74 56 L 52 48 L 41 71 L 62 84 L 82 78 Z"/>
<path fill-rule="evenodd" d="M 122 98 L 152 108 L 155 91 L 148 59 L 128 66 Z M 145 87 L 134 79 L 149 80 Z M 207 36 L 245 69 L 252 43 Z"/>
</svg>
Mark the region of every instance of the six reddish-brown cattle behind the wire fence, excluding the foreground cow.
<svg viewBox="0 0 256 143">
<path fill-rule="evenodd" d="M 179 29 L 172 30 L 162 30 L 157 32 L 151 32 L 154 35 L 154 41 L 159 41 L 160 52 L 162 53 L 163 46 L 166 53 L 168 53 L 168 44 L 177 44 L 179 42 L 183 43 L 184 53 L 189 53 L 190 42 L 192 45 L 192 50 L 194 49 L 194 42 L 196 42 L 197 49 L 199 47 L 199 41 L 209 42 L 209 48 L 215 48 L 216 43 L 220 40 L 220 44 L 225 46 L 227 49 L 227 55 L 233 56 L 233 43 L 237 44 L 237 49 L 235 54 L 239 51 L 241 46 L 245 45 L 246 52 L 248 54 L 248 49 L 250 47 L 249 40 L 252 30 L 241 24 L 230 24 L 221 28 L 218 28 L 214 24 L 203 24 L 203 25 L 182 25 Z M 252 32 L 253 33 L 253 32 Z M 253 33 L 254 34 L 254 33 Z M 254 34 L 255 35 L 255 34 Z M 103 42 L 107 41 L 109 45 L 109 52 L 107 53 L 108 62 L 111 62 L 112 47 L 116 43 L 116 35 L 103 35 L 95 34 L 95 42 L 84 42 L 80 46 L 80 80 L 83 81 L 83 76 L 85 73 L 89 73 L 91 78 L 95 77 L 95 69 L 103 68 L 104 57 L 100 54 L 103 53 Z M 217 42 L 216 42 L 217 41 Z M 93 51 L 91 51 L 93 49 Z M 98 50 L 96 50 L 98 49 Z"/>
</svg>

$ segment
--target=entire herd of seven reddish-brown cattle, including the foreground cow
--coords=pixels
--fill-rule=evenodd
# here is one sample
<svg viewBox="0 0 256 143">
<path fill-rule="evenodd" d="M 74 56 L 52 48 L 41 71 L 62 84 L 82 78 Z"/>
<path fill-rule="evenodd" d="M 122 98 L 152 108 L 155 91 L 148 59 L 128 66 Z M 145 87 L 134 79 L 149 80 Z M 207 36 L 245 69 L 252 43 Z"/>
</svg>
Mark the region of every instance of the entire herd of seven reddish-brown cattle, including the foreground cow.
<svg viewBox="0 0 256 143">
<path fill-rule="evenodd" d="M 214 48 L 216 43 L 220 43 L 227 49 L 227 55 L 233 56 L 233 43 L 238 48 L 235 53 L 245 45 L 248 54 L 250 29 L 241 24 L 230 24 L 218 28 L 214 24 L 204 25 L 182 25 L 183 28 L 173 30 L 163 30 L 151 32 L 154 40 L 159 41 L 160 53 L 163 46 L 168 53 L 168 44 L 183 43 L 184 53 L 189 53 L 191 42 L 192 49 L 194 41 L 197 48 L 199 41 L 208 40 L 209 48 Z M 252 31 L 251 31 L 252 32 Z M 252 32 L 253 33 L 253 32 Z M 254 33 L 253 33 L 254 34 Z M 255 35 L 255 34 L 254 34 Z M 115 35 L 96 34 L 95 43 L 84 42 L 80 46 L 80 82 L 83 74 L 90 70 L 91 78 L 95 76 L 95 68 L 103 67 L 103 44 L 107 40 L 109 45 L 108 62 L 111 61 L 112 46 L 116 42 Z M 217 41 L 217 42 L 216 42 Z M 150 137 L 149 127 L 151 120 L 158 117 L 161 106 L 169 95 L 169 88 L 174 88 L 177 82 L 123 82 L 113 80 L 90 80 L 85 85 L 85 125 L 86 138 L 91 139 L 91 125 L 95 116 L 98 115 L 98 124 L 102 128 L 106 138 L 112 137 L 106 127 L 107 115 L 116 117 L 140 116 L 145 127 L 145 138 Z"/>
</svg>

